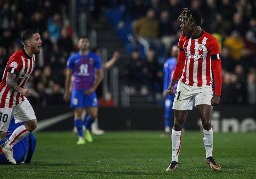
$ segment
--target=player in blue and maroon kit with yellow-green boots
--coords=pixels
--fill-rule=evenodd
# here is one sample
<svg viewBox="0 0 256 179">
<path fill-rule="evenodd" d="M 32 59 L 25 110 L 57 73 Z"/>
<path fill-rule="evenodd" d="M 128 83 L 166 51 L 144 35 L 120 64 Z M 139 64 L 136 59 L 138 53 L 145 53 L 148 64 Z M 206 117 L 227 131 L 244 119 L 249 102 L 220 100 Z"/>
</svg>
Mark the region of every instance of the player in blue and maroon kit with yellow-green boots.
<svg viewBox="0 0 256 179">
<path fill-rule="evenodd" d="M 80 37 L 78 41 L 79 52 L 71 55 L 67 60 L 67 72 L 65 81 L 64 100 L 69 101 L 74 108 L 74 126 L 77 128 L 78 142 L 86 144 L 92 142 L 90 128 L 98 116 L 98 100 L 95 90 L 103 78 L 103 70 L 100 57 L 89 51 L 90 41 L 88 37 Z M 71 76 L 74 75 L 73 89 L 70 93 L 69 87 Z M 82 112 L 86 108 L 85 134 L 83 133 Z"/>
</svg>

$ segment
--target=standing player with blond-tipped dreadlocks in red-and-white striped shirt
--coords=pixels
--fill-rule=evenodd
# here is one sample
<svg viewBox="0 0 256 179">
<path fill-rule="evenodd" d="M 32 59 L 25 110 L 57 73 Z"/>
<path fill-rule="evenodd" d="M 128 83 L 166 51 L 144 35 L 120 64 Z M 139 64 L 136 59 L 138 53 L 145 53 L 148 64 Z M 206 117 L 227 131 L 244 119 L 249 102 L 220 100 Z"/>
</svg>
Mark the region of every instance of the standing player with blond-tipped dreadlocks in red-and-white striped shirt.
<svg viewBox="0 0 256 179">
<path fill-rule="evenodd" d="M 205 161 L 214 171 L 217 171 L 221 167 L 213 158 L 213 128 L 210 117 L 213 106 L 220 103 L 221 96 L 220 46 L 215 37 L 201 29 L 201 16 L 196 10 L 184 8 L 178 20 L 182 22 L 180 27 L 183 34 L 178 43 L 178 62 L 171 84 L 166 90 L 169 95 L 175 94 L 174 127 L 171 134 L 172 160 L 166 171 L 178 168 L 182 127 L 188 111 L 192 110 L 193 99 L 195 99 L 195 106 L 199 109 L 203 126 Z M 212 88 L 212 73 L 215 91 Z M 174 91 L 176 81 L 178 86 Z"/>
</svg>

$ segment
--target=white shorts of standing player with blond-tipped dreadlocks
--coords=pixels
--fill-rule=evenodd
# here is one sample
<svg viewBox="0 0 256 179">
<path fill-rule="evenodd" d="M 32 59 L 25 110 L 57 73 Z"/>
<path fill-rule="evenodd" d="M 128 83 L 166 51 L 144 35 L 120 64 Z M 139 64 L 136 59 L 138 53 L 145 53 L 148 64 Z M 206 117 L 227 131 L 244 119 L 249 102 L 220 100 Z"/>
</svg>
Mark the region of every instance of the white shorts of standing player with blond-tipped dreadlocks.
<svg viewBox="0 0 256 179">
<path fill-rule="evenodd" d="M 179 81 L 174 97 L 173 109 L 192 110 L 194 98 L 195 106 L 211 105 L 212 97 L 213 88 L 211 86 L 189 86 Z"/>
</svg>

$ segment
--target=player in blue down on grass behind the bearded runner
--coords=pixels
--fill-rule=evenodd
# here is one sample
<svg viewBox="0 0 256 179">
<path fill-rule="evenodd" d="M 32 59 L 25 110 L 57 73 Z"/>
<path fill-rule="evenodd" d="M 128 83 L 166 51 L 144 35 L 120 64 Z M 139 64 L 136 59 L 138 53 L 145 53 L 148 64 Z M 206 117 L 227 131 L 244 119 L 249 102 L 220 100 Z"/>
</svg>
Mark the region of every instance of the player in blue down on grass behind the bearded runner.
<svg viewBox="0 0 256 179">
<path fill-rule="evenodd" d="M 5 140 L 0 141 L 0 145 L 9 140 L 14 130 L 22 125 L 24 125 L 23 122 L 16 124 L 14 118 L 12 118 Z M 30 133 L 12 148 L 14 159 L 16 160 L 17 164 L 30 163 L 35 149 L 36 138 L 33 133 Z M 0 154 L 0 164 L 9 164 L 9 161 L 4 154 Z"/>
</svg>

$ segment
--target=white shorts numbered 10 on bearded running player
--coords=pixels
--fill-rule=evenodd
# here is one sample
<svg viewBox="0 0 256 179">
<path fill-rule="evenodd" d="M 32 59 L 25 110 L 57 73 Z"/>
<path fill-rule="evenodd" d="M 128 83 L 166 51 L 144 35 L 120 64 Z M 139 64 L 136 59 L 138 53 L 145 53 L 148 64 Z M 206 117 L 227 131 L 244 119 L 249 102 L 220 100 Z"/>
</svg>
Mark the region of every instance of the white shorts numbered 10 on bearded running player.
<svg viewBox="0 0 256 179">
<path fill-rule="evenodd" d="M 35 112 L 28 100 L 22 101 L 13 108 L 0 108 L 0 131 L 7 132 L 13 116 L 15 123 L 36 119 Z"/>
</svg>

